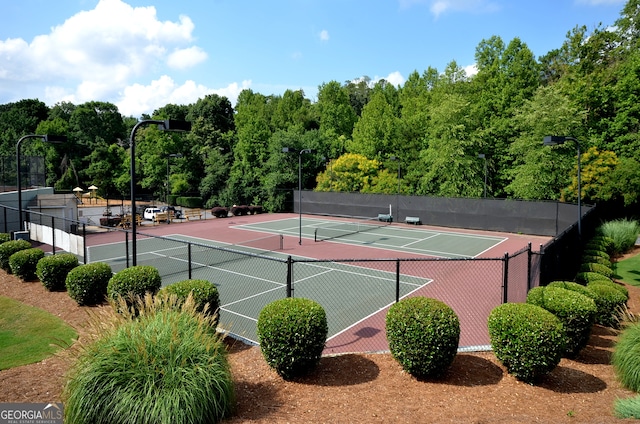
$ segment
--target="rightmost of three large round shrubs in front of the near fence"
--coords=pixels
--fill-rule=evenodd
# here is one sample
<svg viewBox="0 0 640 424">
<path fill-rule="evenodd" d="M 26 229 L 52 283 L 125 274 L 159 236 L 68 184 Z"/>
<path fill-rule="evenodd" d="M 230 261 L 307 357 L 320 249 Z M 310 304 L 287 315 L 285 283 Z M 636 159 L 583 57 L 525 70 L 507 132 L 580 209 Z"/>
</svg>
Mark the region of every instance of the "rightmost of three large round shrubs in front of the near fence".
<svg viewBox="0 0 640 424">
<path fill-rule="evenodd" d="M 565 352 L 562 323 L 540 306 L 504 303 L 489 314 L 488 328 L 496 358 L 527 383 L 552 371 Z"/>
</svg>

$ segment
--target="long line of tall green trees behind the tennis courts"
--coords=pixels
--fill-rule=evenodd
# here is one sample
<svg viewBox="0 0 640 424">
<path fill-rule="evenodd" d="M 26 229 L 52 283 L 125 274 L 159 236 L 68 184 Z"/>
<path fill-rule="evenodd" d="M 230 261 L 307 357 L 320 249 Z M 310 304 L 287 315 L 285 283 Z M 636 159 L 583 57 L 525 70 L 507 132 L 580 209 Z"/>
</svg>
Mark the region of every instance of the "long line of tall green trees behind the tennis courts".
<svg viewBox="0 0 640 424">
<path fill-rule="evenodd" d="M 542 145 L 546 135 L 565 135 L 580 143 L 583 201 L 637 204 L 639 40 L 640 0 L 629 0 L 613 25 L 576 26 L 539 58 L 519 38 L 484 39 L 473 76 L 452 61 L 443 71 L 414 71 L 402 86 L 367 77 L 322 83 L 315 101 L 301 90 L 247 89 L 235 108 L 216 94 L 167 104 L 141 119 L 188 120 L 192 130 L 141 128 L 137 180 L 160 199 L 170 188 L 207 207 L 277 211 L 298 187 L 301 161 L 304 189 L 575 201 L 576 143 Z M 65 144 L 23 147 L 25 155 L 45 154 L 48 185 L 95 184 L 102 196 L 126 198 L 137 122 L 100 101 L 4 104 L 0 155 L 14 155 L 25 134 L 66 134 Z"/>
</svg>

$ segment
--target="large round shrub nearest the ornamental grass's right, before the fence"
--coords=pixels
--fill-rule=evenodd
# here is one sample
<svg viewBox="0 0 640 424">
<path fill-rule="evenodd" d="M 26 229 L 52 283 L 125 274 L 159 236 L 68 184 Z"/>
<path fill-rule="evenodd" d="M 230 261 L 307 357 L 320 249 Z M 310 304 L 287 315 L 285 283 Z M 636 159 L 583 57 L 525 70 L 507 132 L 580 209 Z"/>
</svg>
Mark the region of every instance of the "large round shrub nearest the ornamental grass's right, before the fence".
<svg viewBox="0 0 640 424">
<path fill-rule="evenodd" d="M 267 364 L 285 380 L 316 368 L 327 340 L 327 315 L 319 303 L 285 298 L 260 311 L 258 340 Z"/>
</svg>

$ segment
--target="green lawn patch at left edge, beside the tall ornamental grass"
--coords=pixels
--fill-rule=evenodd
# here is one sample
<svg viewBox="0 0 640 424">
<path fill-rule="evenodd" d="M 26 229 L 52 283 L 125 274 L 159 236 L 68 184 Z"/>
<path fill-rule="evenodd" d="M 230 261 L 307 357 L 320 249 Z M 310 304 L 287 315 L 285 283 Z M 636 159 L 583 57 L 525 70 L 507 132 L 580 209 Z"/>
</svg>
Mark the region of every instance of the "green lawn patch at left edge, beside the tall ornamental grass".
<svg viewBox="0 0 640 424">
<path fill-rule="evenodd" d="M 0 296 L 0 370 L 41 361 L 77 337 L 49 312 Z"/>
</svg>

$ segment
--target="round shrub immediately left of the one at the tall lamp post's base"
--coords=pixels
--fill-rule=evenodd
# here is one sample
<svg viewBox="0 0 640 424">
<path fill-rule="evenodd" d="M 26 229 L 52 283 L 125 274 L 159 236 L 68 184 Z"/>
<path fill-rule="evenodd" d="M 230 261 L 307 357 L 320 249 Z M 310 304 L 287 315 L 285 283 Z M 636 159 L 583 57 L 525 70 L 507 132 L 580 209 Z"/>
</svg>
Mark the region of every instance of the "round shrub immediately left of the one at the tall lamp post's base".
<svg viewBox="0 0 640 424">
<path fill-rule="evenodd" d="M 104 262 L 79 265 L 67 274 L 67 293 L 78 305 L 102 303 L 112 275 L 111 267 Z"/>
</svg>

